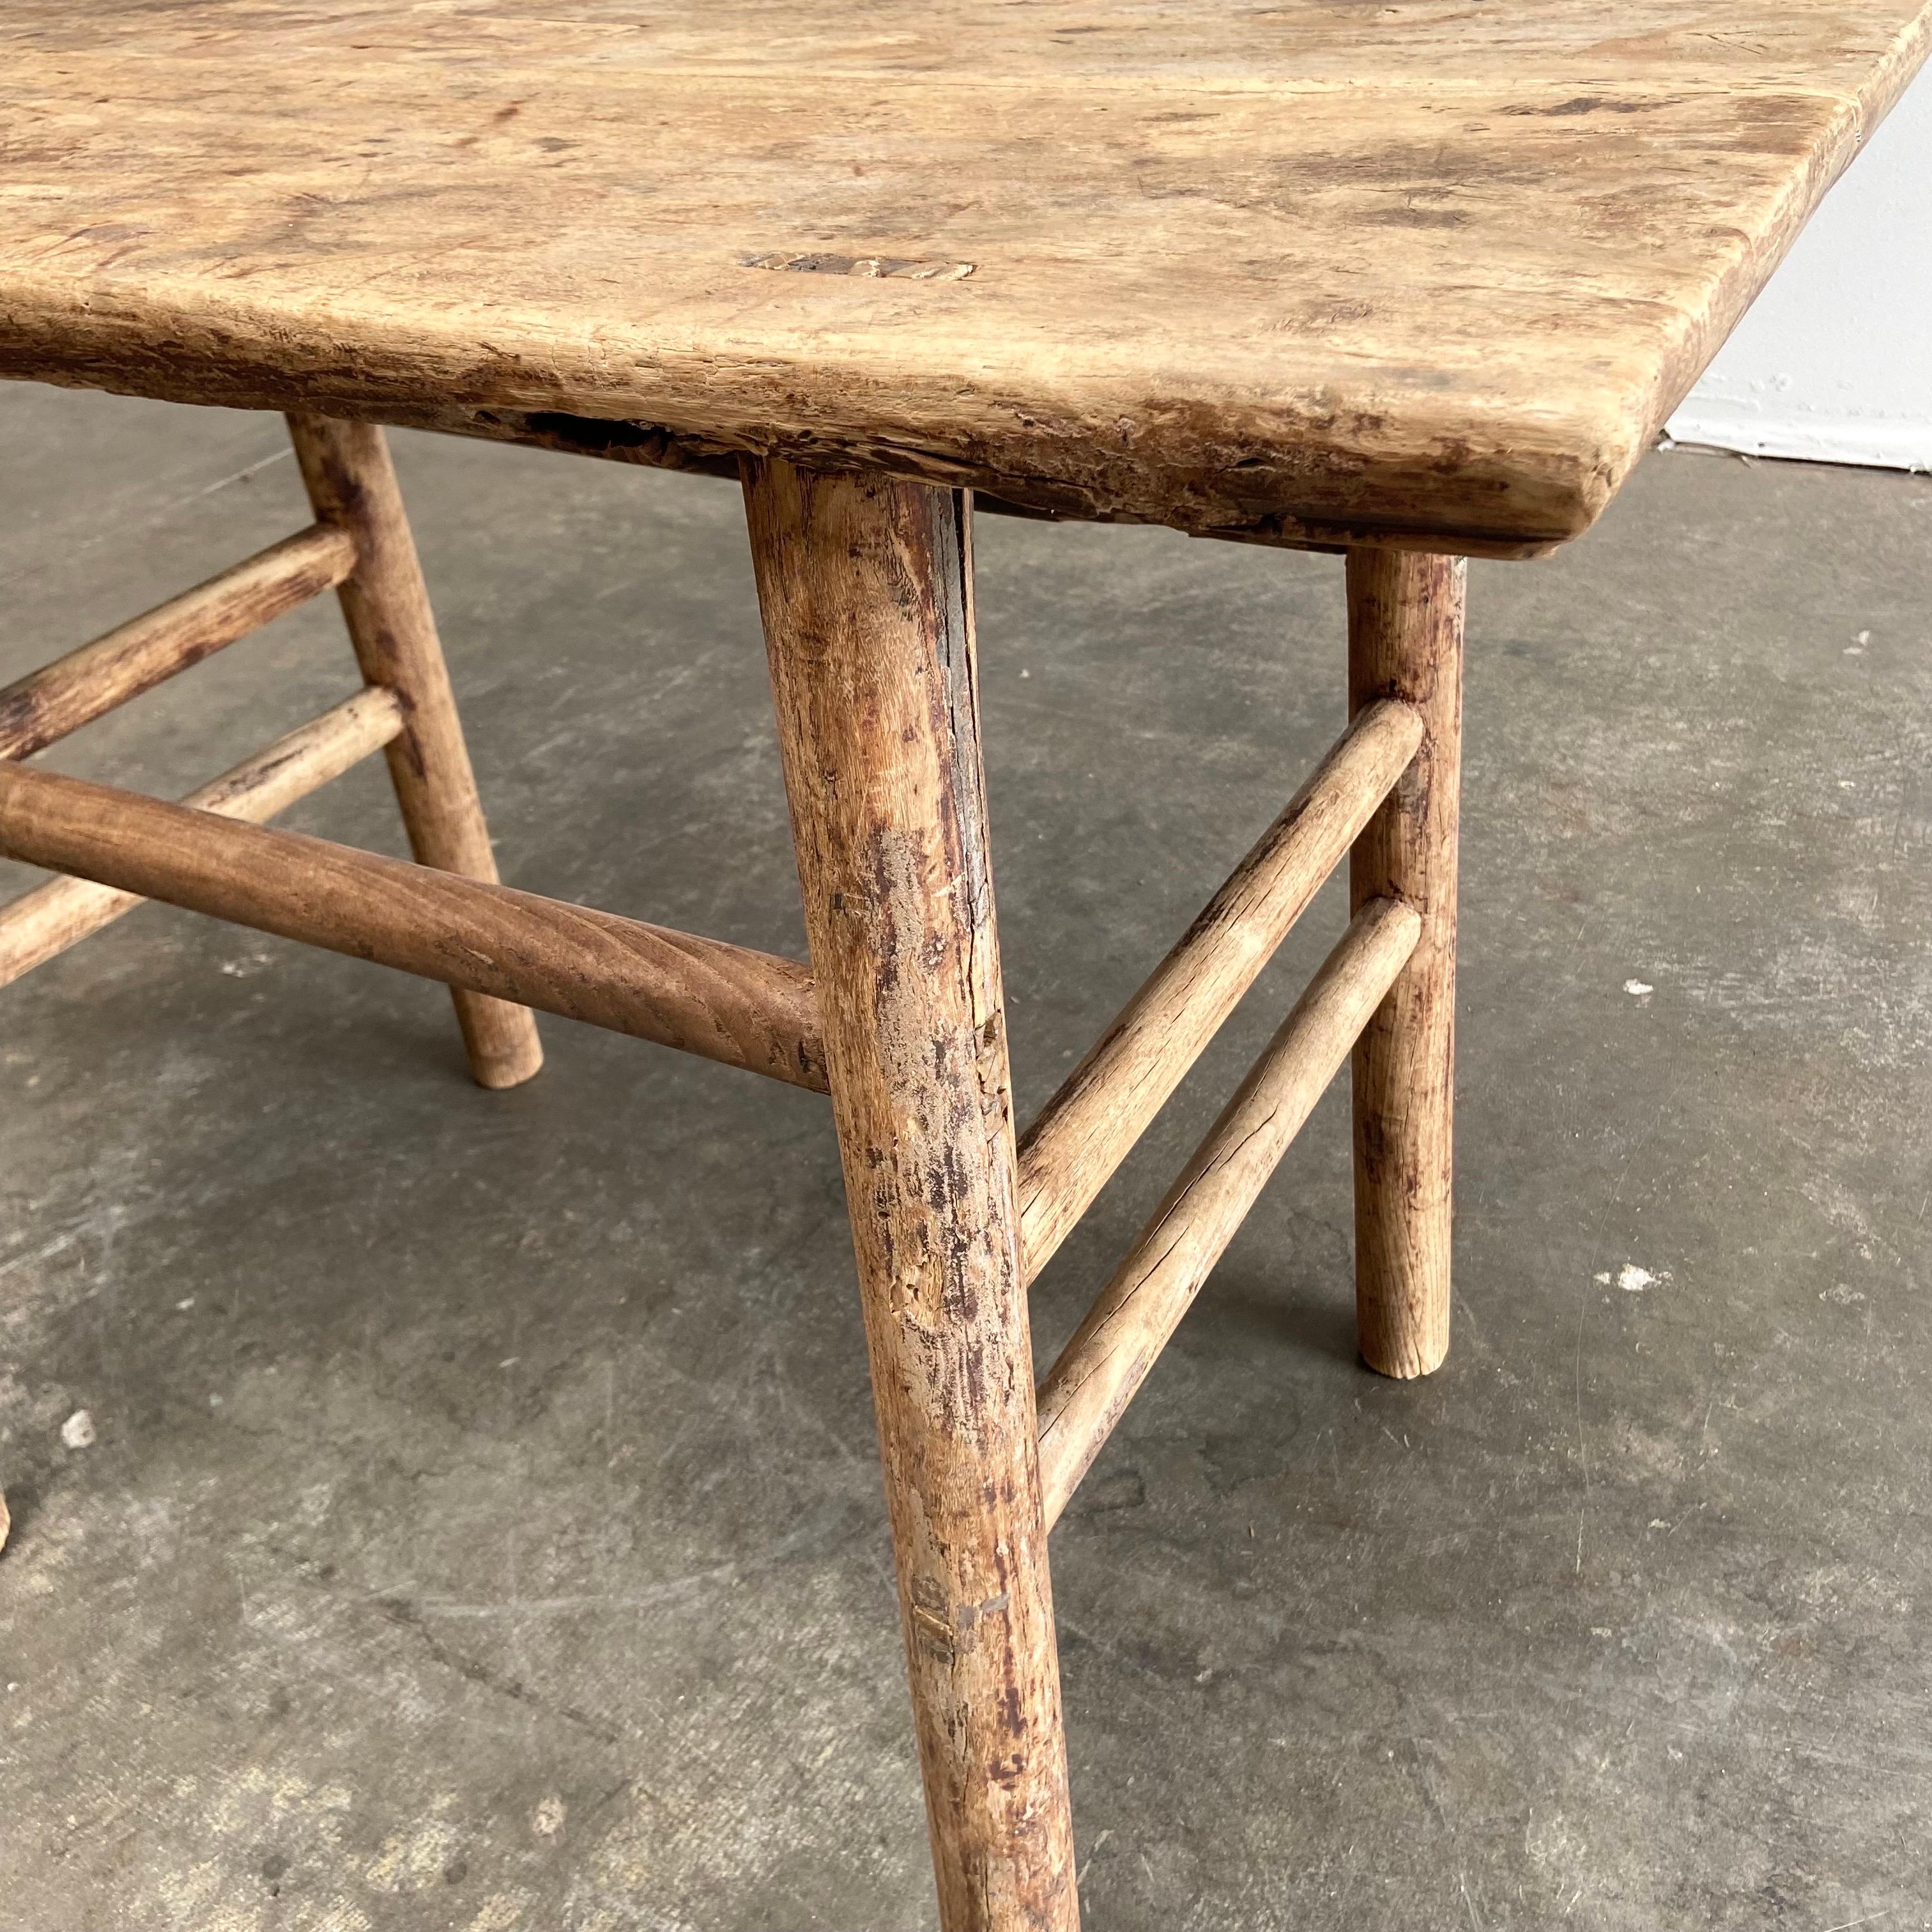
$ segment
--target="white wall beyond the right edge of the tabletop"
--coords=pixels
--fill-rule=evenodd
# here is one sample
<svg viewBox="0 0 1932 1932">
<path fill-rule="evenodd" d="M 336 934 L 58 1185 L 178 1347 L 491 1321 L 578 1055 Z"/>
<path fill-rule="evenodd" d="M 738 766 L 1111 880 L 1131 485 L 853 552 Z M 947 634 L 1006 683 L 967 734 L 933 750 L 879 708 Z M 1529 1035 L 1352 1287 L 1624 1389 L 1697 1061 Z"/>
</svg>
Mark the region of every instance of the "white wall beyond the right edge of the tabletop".
<svg viewBox="0 0 1932 1932">
<path fill-rule="evenodd" d="M 1826 195 L 1669 435 L 1932 469 L 1932 68 Z"/>
</svg>

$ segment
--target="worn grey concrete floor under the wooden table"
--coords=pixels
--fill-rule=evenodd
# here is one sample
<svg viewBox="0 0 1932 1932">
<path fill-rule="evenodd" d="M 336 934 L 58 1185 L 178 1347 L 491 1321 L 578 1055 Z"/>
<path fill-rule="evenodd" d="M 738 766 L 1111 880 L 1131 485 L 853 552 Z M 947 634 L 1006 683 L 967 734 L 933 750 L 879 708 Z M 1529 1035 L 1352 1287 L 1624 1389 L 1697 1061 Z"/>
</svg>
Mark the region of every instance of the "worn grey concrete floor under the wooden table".
<svg viewBox="0 0 1932 1932">
<path fill-rule="evenodd" d="M 0 676 L 303 520 L 272 419 L 0 433 Z M 396 446 L 504 875 L 802 947 L 736 493 Z M 1455 1349 L 1354 1360 L 1337 1090 L 1055 1538 L 1095 1932 L 1932 1924 L 1928 612 L 1907 475 L 1662 456 L 1474 568 Z M 1341 570 L 985 518 L 981 632 L 1026 1117 L 1337 730 Z M 350 684 L 311 607 L 48 763 Z M 400 850 L 379 765 L 286 823 Z M 823 1101 L 564 1022 L 483 1094 L 168 908 L 0 1014 L 8 1932 L 931 1922 Z"/>
</svg>

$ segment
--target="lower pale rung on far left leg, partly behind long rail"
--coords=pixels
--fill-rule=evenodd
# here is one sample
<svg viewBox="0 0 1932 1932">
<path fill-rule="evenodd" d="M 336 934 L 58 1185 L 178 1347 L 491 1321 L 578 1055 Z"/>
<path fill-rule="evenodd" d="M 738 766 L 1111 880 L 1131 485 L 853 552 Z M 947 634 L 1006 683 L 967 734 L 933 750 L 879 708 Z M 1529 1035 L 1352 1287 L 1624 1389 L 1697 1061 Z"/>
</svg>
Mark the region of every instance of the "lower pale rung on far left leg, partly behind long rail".
<svg viewBox="0 0 1932 1932">
<path fill-rule="evenodd" d="M 265 746 L 218 779 L 189 792 L 182 804 L 259 825 L 321 790 L 330 779 L 381 752 L 402 730 L 394 692 L 365 686 L 354 697 Z M 0 985 L 66 952 L 89 933 L 112 925 L 143 904 L 93 879 L 50 879 L 10 906 L 0 906 Z"/>
</svg>

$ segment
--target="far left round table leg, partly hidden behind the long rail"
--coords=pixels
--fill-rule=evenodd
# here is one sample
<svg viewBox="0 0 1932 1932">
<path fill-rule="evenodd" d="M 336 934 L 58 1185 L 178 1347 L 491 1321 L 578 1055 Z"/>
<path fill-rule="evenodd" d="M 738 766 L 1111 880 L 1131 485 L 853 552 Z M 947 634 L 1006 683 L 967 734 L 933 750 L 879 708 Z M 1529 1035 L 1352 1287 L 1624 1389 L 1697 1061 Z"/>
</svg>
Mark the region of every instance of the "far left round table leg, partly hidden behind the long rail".
<svg viewBox="0 0 1932 1932">
<path fill-rule="evenodd" d="M 388 775 L 410 850 L 417 864 L 495 885 L 497 854 L 388 442 L 373 423 L 327 415 L 292 415 L 288 433 L 317 522 L 340 524 L 355 537 L 355 570 L 338 595 L 363 678 L 402 699 Z M 450 997 L 481 1086 L 518 1086 L 537 1072 L 543 1045 L 527 1007 L 460 987 Z"/>
</svg>

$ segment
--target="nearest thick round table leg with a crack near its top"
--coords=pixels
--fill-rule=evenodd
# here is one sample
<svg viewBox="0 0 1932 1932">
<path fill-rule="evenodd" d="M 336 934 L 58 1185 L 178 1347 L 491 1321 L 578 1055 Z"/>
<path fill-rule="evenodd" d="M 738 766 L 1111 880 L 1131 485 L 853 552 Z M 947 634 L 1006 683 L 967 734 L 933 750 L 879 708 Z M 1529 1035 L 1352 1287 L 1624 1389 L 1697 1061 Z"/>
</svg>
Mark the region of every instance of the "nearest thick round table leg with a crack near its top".
<svg viewBox="0 0 1932 1932">
<path fill-rule="evenodd" d="M 970 498 L 746 464 L 945 1932 L 1074 1932 Z"/>
</svg>

